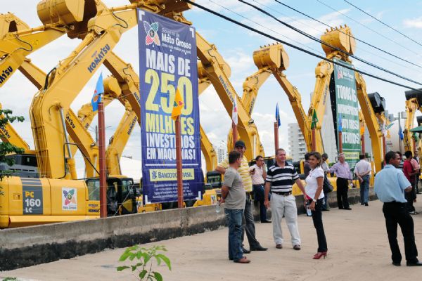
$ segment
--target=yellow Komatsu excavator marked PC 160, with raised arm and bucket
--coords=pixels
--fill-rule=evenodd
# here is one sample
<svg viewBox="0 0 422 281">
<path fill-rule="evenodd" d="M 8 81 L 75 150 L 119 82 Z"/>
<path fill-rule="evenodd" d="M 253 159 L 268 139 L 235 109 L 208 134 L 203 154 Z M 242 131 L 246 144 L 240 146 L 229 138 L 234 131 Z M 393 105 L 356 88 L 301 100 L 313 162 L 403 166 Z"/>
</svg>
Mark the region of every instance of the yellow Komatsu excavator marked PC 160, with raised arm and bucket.
<svg viewBox="0 0 422 281">
<path fill-rule="evenodd" d="M 88 0 L 39 3 L 38 14 L 44 25 L 66 25 L 71 29 L 70 38 L 83 41 L 47 74 L 43 89 L 32 101 L 31 122 L 41 178 L 12 176 L 0 182 L 0 228 L 98 217 L 96 184 L 71 179 L 65 116 L 120 35 L 136 25 L 138 7 L 162 15 L 189 8 L 171 0 L 148 4 L 132 1 L 132 5 L 116 8 Z"/>
</svg>

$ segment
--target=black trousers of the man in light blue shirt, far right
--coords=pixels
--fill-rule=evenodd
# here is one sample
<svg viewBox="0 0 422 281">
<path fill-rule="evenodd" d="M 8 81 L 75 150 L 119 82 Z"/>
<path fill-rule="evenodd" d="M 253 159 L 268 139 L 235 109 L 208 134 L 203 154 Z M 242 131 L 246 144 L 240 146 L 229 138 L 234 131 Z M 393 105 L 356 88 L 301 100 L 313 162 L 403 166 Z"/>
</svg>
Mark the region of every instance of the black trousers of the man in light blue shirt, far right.
<svg viewBox="0 0 422 281">
<path fill-rule="evenodd" d="M 397 224 L 402 229 L 404 238 L 404 253 L 406 261 L 415 263 L 418 261 L 418 249 L 416 249 L 414 222 L 407 211 L 406 203 L 384 203 L 383 213 L 385 226 L 387 227 L 388 242 L 390 243 L 391 259 L 395 263 L 402 261 L 399 244 L 397 243 Z"/>
</svg>

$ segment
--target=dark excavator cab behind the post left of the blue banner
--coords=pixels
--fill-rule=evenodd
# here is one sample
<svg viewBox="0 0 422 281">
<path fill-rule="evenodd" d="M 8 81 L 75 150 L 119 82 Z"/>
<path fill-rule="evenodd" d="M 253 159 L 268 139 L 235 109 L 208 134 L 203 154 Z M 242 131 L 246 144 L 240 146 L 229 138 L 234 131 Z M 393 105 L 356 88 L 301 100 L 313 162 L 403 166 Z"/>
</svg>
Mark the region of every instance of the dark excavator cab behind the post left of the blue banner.
<svg viewBox="0 0 422 281">
<path fill-rule="evenodd" d="M 89 200 L 100 200 L 100 179 L 88 178 Z M 107 178 L 107 216 L 137 213 L 136 189 L 132 178 Z"/>
</svg>

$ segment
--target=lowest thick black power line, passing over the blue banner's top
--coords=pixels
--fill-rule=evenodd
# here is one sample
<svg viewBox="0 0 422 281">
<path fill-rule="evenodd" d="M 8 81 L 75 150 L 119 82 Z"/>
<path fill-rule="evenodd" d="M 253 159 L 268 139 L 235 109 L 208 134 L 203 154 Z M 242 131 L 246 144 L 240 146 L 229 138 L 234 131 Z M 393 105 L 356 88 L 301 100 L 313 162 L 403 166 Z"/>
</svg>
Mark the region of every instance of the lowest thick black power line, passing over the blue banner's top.
<svg viewBox="0 0 422 281">
<path fill-rule="evenodd" d="M 329 59 L 329 58 L 323 57 L 322 55 L 317 55 L 316 53 L 312 53 L 312 52 L 310 52 L 310 51 L 307 51 L 307 50 L 305 50 L 305 49 L 303 49 L 303 48 L 300 48 L 300 47 L 298 47 L 298 46 L 295 46 L 295 45 L 293 45 L 293 44 L 290 44 L 290 43 L 288 43 L 288 42 L 286 42 L 286 41 L 283 41 L 283 40 L 281 40 L 281 39 L 279 39 L 279 38 L 276 38 L 276 37 L 273 37 L 273 36 L 271 36 L 271 35 L 269 35 L 269 34 L 266 34 L 266 33 L 262 32 L 262 31 L 260 31 L 260 30 L 256 30 L 256 29 L 255 29 L 255 28 L 253 28 L 253 27 L 249 27 L 248 25 L 245 25 L 245 24 L 243 24 L 242 22 L 238 22 L 237 20 L 233 20 L 232 18 L 229 18 L 229 17 L 227 17 L 226 15 L 222 15 L 221 13 L 217 13 L 216 11 L 212 11 L 212 10 L 210 10 L 210 8 L 207 8 L 207 7 L 205 7 L 205 6 L 202 6 L 202 5 L 200 5 L 200 4 L 197 4 L 197 3 L 195 3 L 195 2 L 193 2 L 193 1 L 191 1 L 191 0 L 182 0 L 182 1 L 185 1 L 185 2 L 186 2 L 186 3 L 188 3 L 188 4 L 191 4 L 191 5 L 193 5 L 193 6 L 196 6 L 196 7 L 200 8 L 201 10 L 207 11 L 208 13 L 212 13 L 213 15 L 217 15 L 217 17 L 219 17 L 219 18 L 223 18 L 224 20 L 227 20 L 227 21 L 229 21 L 229 22 L 232 22 L 232 23 L 234 23 L 235 25 L 239 25 L 239 26 L 241 26 L 241 27 L 243 27 L 243 28 L 245 28 L 245 29 L 247 29 L 247 30 L 250 30 L 250 31 L 252 31 L 252 32 L 255 32 L 255 33 L 257 33 L 257 34 L 260 34 L 260 35 L 262 35 L 263 37 L 267 37 L 267 38 L 272 39 L 272 40 L 274 40 L 274 41 L 278 41 L 278 42 L 280 42 L 281 44 L 284 44 L 284 45 L 286 45 L 286 46 L 290 46 L 291 48 L 295 48 L 295 49 L 296 49 L 296 50 L 298 50 L 298 51 L 302 51 L 303 53 L 307 53 L 307 54 L 312 55 L 312 56 L 314 56 L 314 57 L 316 57 L 316 58 L 319 58 L 319 59 L 321 59 L 321 60 L 326 60 L 328 63 L 333 63 L 334 65 L 340 65 L 340 66 L 345 67 L 345 68 L 347 68 L 347 69 L 349 69 L 349 70 L 353 70 L 353 71 L 355 71 L 355 72 L 358 72 L 358 73 L 360 73 L 360 74 L 364 74 L 364 75 L 369 76 L 369 77 L 372 77 L 372 78 L 374 78 L 374 79 L 378 79 L 378 80 L 380 80 L 380 81 L 385 81 L 385 82 L 387 82 L 387 83 L 389 83 L 389 84 L 393 84 L 393 85 L 396 85 L 396 86 L 401 86 L 401 87 L 406 88 L 406 89 L 411 89 L 411 90 L 414 90 L 414 91 L 422 92 L 422 91 L 420 91 L 420 90 L 418 90 L 418 89 L 416 89 L 416 88 L 413 88 L 413 87 L 411 87 L 411 86 L 407 86 L 407 85 L 404 85 L 404 84 L 400 84 L 400 83 L 395 82 L 395 81 L 390 81 L 390 80 L 388 80 L 388 79 L 385 79 L 385 78 L 382 78 L 382 77 L 378 77 L 378 76 L 376 76 L 376 75 L 374 75 L 374 74 L 370 74 L 370 73 L 368 73 L 368 72 L 364 72 L 364 71 L 362 71 L 362 70 L 357 70 L 357 69 L 356 69 L 356 68 L 354 68 L 354 67 L 350 67 L 350 66 L 348 66 L 348 65 L 344 65 L 344 64 L 343 64 L 343 63 L 341 63 L 341 62 L 336 62 L 336 61 L 331 60 L 331 59 Z"/>
</svg>

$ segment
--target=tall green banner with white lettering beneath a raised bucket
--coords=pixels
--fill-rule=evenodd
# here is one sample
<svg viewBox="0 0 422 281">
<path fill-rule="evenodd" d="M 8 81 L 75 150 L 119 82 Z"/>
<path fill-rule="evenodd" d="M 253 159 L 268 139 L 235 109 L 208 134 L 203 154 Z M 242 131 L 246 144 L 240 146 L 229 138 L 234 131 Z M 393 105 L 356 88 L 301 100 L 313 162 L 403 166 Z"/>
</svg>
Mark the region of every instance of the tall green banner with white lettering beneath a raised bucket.
<svg viewBox="0 0 422 281">
<path fill-rule="evenodd" d="M 343 60 L 334 59 L 334 61 L 352 67 L 350 63 L 346 63 Z M 333 74 L 337 111 L 337 139 L 338 128 L 341 126 L 343 152 L 345 153 L 347 163 L 353 169 L 354 165 L 359 162 L 359 153 L 362 145 L 359 127 L 359 103 L 357 100 L 354 71 L 335 64 Z"/>
</svg>

